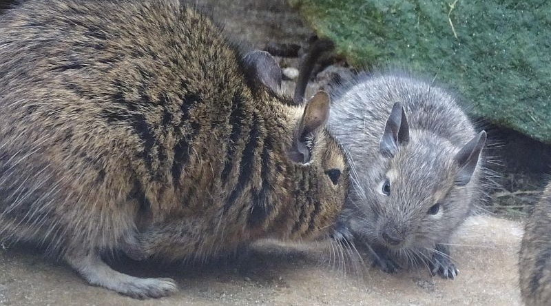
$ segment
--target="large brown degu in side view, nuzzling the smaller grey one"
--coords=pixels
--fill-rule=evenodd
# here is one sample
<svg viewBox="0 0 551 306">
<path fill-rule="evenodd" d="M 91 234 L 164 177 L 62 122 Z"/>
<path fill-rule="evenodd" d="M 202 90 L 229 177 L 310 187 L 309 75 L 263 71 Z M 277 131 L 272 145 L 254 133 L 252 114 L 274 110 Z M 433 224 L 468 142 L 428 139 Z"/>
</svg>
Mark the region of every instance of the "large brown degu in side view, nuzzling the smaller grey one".
<svg viewBox="0 0 551 306">
<path fill-rule="evenodd" d="M 179 0 L 25 1 L 0 17 L 0 241 L 138 298 L 168 261 L 330 234 L 348 190 L 329 96 L 295 106 L 266 52 Z"/>
</svg>

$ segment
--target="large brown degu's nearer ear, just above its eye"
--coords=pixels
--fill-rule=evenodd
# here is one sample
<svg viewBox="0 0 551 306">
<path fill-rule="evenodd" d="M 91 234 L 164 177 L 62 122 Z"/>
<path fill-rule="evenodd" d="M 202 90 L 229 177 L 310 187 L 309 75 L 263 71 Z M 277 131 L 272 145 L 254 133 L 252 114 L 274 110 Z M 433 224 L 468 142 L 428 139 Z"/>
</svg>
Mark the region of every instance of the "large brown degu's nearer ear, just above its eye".
<svg viewBox="0 0 551 306">
<path fill-rule="evenodd" d="M 308 163 L 310 151 L 306 147 L 306 139 L 310 134 L 324 128 L 329 118 L 329 95 L 326 92 L 316 93 L 306 103 L 304 114 L 293 134 L 293 144 L 289 149 L 289 158 L 295 163 Z"/>
</svg>

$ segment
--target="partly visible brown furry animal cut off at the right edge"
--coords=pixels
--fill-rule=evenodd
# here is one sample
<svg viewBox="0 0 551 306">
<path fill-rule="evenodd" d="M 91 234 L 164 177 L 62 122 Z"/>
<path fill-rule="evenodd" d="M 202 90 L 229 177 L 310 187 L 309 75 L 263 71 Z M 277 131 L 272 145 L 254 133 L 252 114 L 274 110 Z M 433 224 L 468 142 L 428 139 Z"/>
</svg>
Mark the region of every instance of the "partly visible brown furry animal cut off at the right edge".
<svg viewBox="0 0 551 306">
<path fill-rule="evenodd" d="M 551 183 L 526 221 L 519 253 L 521 295 L 526 306 L 551 303 Z"/>
</svg>

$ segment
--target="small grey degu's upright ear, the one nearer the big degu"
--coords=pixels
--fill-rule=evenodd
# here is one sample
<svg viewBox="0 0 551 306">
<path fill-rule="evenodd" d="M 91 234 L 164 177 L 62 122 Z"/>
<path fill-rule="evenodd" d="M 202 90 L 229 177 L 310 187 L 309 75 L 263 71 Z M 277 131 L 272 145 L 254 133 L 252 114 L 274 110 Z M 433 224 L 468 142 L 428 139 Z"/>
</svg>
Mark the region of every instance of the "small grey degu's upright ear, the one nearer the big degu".
<svg viewBox="0 0 551 306">
<path fill-rule="evenodd" d="M 391 114 L 386 120 L 383 136 L 379 143 L 379 151 L 384 156 L 394 156 L 398 151 L 399 145 L 404 145 L 409 141 L 409 126 L 406 119 L 406 113 L 402 104 L 394 103 Z"/>
</svg>

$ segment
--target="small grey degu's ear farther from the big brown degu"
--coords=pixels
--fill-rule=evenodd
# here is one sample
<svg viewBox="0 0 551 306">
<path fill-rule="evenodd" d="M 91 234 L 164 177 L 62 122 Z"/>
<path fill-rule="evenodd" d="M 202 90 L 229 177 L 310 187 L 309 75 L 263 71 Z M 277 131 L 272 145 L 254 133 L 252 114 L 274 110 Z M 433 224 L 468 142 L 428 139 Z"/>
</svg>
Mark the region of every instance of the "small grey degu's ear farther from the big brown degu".
<svg viewBox="0 0 551 306">
<path fill-rule="evenodd" d="M 479 161 L 480 152 L 486 144 L 486 132 L 482 131 L 475 138 L 464 145 L 457 154 L 455 154 L 455 163 L 459 167 L 459 172 L 455 176 L 455 183 L 458 186 L 467 185 L 475 172 Z"/>
</svg>

